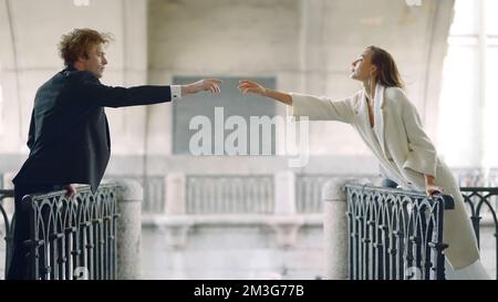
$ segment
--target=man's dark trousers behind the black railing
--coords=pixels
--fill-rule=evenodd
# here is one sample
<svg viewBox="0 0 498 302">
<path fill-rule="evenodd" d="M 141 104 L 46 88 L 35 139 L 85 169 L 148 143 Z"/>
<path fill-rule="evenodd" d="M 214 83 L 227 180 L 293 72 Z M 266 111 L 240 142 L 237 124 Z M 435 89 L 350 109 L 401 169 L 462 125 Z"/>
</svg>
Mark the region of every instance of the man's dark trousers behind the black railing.
<svg viewBox="0 0 498 302">
<path fill-rule="evenodd" d="M 30 214 L 22 207 L 22 197 L 34 192 L 49 192 L 54 186 L 17 184 L 14 186 L 15 220 L 13 226 L 12 260 L 7 272 L 7 280 L 29 279 L 29 252 L 27 240 L 30 239 Z"/>
</svg>

